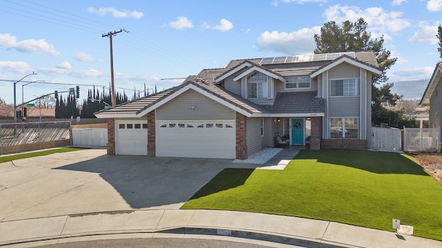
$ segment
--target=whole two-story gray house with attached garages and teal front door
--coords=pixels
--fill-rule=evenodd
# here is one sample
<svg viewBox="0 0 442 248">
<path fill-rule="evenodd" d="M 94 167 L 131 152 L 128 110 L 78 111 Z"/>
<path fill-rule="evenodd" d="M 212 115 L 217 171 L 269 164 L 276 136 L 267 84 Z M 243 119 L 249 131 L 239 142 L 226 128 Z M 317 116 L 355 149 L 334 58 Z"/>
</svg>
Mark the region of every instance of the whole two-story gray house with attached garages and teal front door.
<svg viewBox="0 0 442 248">
<path fill-rule="evenodd" d="M 373 52 L 231 61 L 184 83 L 95 113 L 108 154 L 244 159 L 276 145 L 367 149 Z"/>
</svg>

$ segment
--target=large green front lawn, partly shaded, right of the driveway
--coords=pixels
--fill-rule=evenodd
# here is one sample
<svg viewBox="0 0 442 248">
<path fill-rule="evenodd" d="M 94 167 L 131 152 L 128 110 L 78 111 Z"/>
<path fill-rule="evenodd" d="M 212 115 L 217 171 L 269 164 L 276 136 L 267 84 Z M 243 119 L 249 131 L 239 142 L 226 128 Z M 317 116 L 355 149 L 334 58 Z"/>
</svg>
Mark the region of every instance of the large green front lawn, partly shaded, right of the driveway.
<svg viewBox="0 0 442 248">
<path fill-rule="evenodd" d="M 224 169 L 182 209 L 330 220 L 442 240 L 442 187 L 405 154 L 302 150 L 283 171 Z"/>
</svg>

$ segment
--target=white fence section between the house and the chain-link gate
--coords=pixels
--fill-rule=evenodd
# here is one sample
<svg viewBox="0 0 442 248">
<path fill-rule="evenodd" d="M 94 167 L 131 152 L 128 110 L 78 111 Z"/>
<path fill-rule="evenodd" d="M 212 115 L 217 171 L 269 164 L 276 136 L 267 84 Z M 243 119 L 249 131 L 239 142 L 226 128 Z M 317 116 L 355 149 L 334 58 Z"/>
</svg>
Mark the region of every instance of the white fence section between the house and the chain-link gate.
<svg viewBox="0 0 442 248">
<path fill-rule="evenodd" d="M 372 127 L 372 133 L 372 149 L 402 151 L 402 130 L 392 127 Z"/>
</svg>

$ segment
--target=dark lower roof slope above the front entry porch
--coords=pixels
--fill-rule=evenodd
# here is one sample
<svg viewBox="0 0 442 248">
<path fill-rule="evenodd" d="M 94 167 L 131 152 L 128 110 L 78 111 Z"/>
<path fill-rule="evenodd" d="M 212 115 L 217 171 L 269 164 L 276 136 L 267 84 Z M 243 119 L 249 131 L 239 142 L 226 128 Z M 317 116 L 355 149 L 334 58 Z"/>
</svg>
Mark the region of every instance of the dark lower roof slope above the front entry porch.
<svg viewBox="0 0 442 248">
<path fill-rule="evenodd" d="M 323 113 L 325 99 L 316 97 L 318 92 L 278 92 L 271 112 L 284 113 Z"/>
</svg>

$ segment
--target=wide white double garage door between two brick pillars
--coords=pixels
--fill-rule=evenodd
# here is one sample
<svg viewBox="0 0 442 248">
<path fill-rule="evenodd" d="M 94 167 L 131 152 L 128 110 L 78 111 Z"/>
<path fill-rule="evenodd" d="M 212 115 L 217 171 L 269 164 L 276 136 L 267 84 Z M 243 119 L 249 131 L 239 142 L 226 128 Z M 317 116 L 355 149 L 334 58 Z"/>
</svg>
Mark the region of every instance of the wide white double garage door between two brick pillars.
<svg viewBox="0 0 442 248">
<path fill-rule="evenodd" d="M 157 121 L 157 156 L 235 158 L 235 121 Z"/>
</svg>

